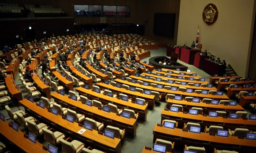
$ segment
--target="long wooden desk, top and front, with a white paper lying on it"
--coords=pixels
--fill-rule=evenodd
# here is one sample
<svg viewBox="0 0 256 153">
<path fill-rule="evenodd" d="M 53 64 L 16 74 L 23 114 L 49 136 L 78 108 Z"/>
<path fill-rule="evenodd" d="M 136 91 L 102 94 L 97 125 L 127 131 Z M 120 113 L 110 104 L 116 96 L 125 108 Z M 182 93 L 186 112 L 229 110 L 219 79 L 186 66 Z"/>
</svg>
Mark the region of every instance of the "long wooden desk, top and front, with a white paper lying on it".
<svg viewBox="0 0 256 153">
<path fill-rule="evenodd" d="M 115 152 L 121 153 L 121 140 L 118 138 L 110 139 L 103 135 L 99 135 L 98 131 L 85 131 L 82 135 L 77 132 L 82 128 L 78 126 L 78 123 L 68 122 L 67 120 L 62 119 L 60 115 L 54 115 L 47 111 L 47 109 L 42 109 L 39 106 L 36 106 L 36 103 L 32 103 L 27 99 L 19 101 L 20 104 L 26 109 L 26 112 L 30 112 L 40 117 L 42 120 L 46 122 L 51 122 L 53 125 L 58 128 L 64 129 L 65 133 L 71 133 L 74 137 L 79 137 L 83 139 L 84 142 L 91 143 L 94 146 L 98 146 L 99 148 L 107 152 Z"/>
</svg>

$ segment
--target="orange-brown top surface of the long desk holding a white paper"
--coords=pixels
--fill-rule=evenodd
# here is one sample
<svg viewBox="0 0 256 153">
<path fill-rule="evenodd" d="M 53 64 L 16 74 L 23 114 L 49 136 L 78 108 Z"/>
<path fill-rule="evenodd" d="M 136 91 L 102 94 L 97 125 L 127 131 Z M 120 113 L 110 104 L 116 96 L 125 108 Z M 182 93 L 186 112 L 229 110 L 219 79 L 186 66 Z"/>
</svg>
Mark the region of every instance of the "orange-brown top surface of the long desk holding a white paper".
<svg viewBox="0 0 256 153">
<path fill-rule="evenodd" d="M 62 119 L 60 115 L 54 115 L 53 113 L 50 113 L 47 111 L 47 109 L 42 109 L 39 106 L 36 106 L 36 103 L 32 103 L 28 101 L 27 99 L 24 99 L 22 101 L 19 101 L 25 108 L 28 108 L 35 113 L 38 113 L 38 115 L 41 115 L 41 117 L 46 118 L 47 120 L 50 120 L 54 124 L 59 125 L 60 127 L 64 127 L 68 129 L 69 131 L 72 131 L 73 133 L 77 133 L 82 127 L 78 126 L 78 123 L 74 122 L 68 122 L 67 120 Z M 110 139 L 103 135 L 99 135 L 98 131 L 85 131 L 81 137 L 88 138 L 90 140 L 95 141 L 101 145 L 108 146 L 109 148 L 115 150 L 116 152 L 121 152 L 121 140 L 118 138 Z M 97 143 L 95 143 L 97 145 Z"/>
</svg>

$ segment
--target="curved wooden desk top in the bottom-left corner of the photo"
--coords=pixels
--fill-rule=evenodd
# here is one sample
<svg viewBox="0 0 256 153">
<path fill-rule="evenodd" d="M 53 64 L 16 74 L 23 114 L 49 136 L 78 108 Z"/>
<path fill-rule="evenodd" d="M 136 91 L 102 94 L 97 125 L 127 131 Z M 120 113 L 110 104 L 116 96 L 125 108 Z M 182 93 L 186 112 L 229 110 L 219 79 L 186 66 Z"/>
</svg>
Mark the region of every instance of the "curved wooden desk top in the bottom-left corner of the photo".
<svg viewBox="0 0 256 153">
<path fill-rule="evenodd" d="M 19 130 L 17 132 L 9 127 L 8 124 L 9 122 L 7 120 L 5 120 L 5 122 L 0 120 L 0 133 L 10 142 L 14 143 L 26 153 L 34 153 L 35 150 L 37 150 L 38 153 L 48 153 L 47 150 L 43 149 L 43 145 L 41 143 L 36 142 L 36 144 L 34 144 L 29 139 L 24 137 L 24 133 L 22 131 Z"/>
</svg>

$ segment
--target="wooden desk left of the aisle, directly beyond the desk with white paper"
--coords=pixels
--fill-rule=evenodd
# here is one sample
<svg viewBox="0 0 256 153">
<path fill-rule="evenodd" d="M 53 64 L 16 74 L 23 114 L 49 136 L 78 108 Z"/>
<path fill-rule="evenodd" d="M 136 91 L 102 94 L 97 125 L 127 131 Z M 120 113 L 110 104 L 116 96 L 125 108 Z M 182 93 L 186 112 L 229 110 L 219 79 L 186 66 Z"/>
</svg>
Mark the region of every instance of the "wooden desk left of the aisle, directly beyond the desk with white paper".
<svg viewBox="0 0 256 153">
<path fill-rule="evenodd" d="M 136 136 L 136 119 L 128 119 L 125 117 L 117 116 L 116 113 L 107 113 L 103 110 L 99 110 L 98 107 L 95 106 L 87 106 L 80 101 L 74 101 L 68 96 L 63 96 L 58 93 L 51 94 L 53 99 L 65 108 L 75 109 L 76 113 L 85 114 L 86 117 L 93 118 L 100 123 L 104 123 L 105 127 L 107 125 L 111 125 L 114 127 L 118 127 L 120 129 L 125 129 L 126 133 L 131 134 L 132 136 Z M 66 103 L 66 104 L 65 104 Z M 132 130 L 131 130 L 132 128 Z"/>
</svg>

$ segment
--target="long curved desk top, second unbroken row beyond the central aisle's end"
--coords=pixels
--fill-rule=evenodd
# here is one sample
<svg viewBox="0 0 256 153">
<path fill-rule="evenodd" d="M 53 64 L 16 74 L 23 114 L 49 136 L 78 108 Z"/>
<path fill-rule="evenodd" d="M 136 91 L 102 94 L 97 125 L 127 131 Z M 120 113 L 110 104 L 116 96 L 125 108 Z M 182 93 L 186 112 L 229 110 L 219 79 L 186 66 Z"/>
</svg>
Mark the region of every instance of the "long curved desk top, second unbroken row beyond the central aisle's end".
<svg viewBox="0 0 256 153">
<path fill-rule="evenodd" d="M 138 77 L 138 76 L 129 76 L 130 78 L 132 79 L 136 79 L 136 80 L 141 80 L 141 81 L 146 81 L 146 82 L 150 82 L 150 83 L 154 83 L 154 84 L 163 84 L 164 86 L 171 86 L 171 87 L 186 87 L 186 88 L 189 88 L 189 89 L 193 89 L 193 90 L 217 90 L 216 87 L 195 87 L 195 86 L 190 86 L 190 85 L 181 85 L 181 84 L 170 84 L 168 82 L 163 82 L 163 81 L 154 81 L 154 80 L 150 80 L 150 79 L 145 79 L 145 78 L 142 78 L 142 77 Z M 164 79 L 167 79 L 167 80 L 172 80 L 170 78 L 164 78 Z"/>
</svg>

